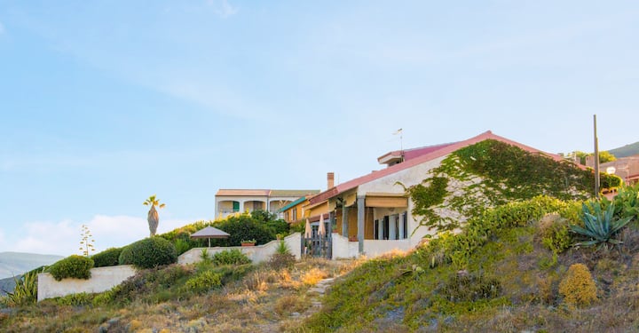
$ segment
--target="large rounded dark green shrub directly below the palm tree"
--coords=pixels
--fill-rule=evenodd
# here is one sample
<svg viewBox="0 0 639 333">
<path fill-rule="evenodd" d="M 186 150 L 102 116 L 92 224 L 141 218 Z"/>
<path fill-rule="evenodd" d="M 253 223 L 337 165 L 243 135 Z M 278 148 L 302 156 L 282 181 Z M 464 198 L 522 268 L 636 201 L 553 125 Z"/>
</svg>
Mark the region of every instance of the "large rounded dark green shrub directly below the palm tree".
<svg viewBox="0 0 639 333">
<path fill-rule="evenodd" d="M 177 262 L 177 250 L 162 237 L 149 237 L 126 246 L 120 254 L 120 265 L 154 268 Z"/>
</svg>

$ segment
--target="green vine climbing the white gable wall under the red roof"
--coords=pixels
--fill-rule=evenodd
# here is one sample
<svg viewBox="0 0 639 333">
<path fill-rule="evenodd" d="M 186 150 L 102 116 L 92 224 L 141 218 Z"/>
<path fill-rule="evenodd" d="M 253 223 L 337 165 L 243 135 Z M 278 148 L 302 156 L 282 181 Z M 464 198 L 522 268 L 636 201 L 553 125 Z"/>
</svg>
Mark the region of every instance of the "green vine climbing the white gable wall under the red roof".
<svg viewBox="0 0 639 333">
<path fill-rule="evenodd" d="M 468 218 L 507 202 L 549 195 L 585 200 L 593 195 L 593 170 L 557 162 L 507 143 L 486 139 L 448 155 L 430 178 L 406 187 L 420 225 L 453 230 Z M 602 188 L 620 185 L 620 178 L 600 174 Z M 447 211 L 442 216 L 438 211 Z"/>
</svg>

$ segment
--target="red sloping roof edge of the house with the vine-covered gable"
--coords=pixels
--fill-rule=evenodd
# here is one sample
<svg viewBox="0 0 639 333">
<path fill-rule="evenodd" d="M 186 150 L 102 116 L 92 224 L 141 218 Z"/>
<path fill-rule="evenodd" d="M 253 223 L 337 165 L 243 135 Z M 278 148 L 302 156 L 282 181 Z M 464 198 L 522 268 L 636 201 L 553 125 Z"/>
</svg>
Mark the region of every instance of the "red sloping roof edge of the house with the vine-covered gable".
<svg viewBox="0 0 639 333">
<path fill-rule="evenodd" d="M 510 139 L 506 139 L 503 137 L 500 137 L 498 135 L 493 134 L 492 131 L 485 131 L 482 134 L 477 135 L 477 137 L 474 138 L 470 138 L 464 141 L 459 141 L 459 142 L 454 142 L 452 144 L 445 144 L 445 145 L 439 145 L 439 146 L 431 146 L 433 147 L 432 150 L 430 150 L 430 152 L 428 153 L 424 153 L 422 155 L 416 156 L 410 160 L 406 160 L 403 163 L 398 163 L 395 165 L 392 165 L 388 168 L 385 168 L 383 170 L 378 170 L 375 171 L 373 173 L 369 173 L 366 176 L 362 176 L 359 178 L 355 178 L 355 179 L 351 179 L 345 183 L 339 184 L 325 192 L 322 192 L 320 194 L 317 194 L 315 196 L 313 196 L 311 199 L 309 199 L 309 201 L 311 202 L 311 204 L 317 203 L 317 202 L 323 202 L 327 199 L 330 199 L 332 197 L 334 197 L 337 194 L 342 194 L 345 191 L 351 190 L 352 188 L 355 188 L 357 186 L 360 186 L 362 184 L 366 184 L 370 181 L 373 181 L 375 179 L 378 178 L 383 178 L 385 176 L 388 176 L 390 174 L 393 174 L 395 172 L 401 171 L 401 170 L 406 170 L 408 168 L 414 167 L 415 165 L 418 164 L 422 164 L 422 163 L 426 163 L 429 161 L 432 161 L 438 157 L 442 157 L 448 154 L 453 153 L 456 150 L 461 149 L 462 147 L 467 147 L 470 145 L 474 145 L 477 142 L 481 142 L 484 141 L 485 139 L 494 139 L 494 140 L 498 140 L 504 143 L 507 143 L 509 145 L 515 146 L 515 147 L 520 147 L 522 149 L 524 149 L 527 152 L 530 153 L 538 153 L 538 154 L 543 154 L 543 155 L 547 155 L 548 157 L 556 160 L 556 161 L 564 161 L 564 158 L 562 156 L 559 155 L 555 155 L 555 154 L 550 154 L 550 153 L 546 153 L 546 152 L 542 152 L 539 149 L 535 149 L 533 147 L 529 147 L 529 146 L 525 146 L 523 144 L 520 144 L 516 141 L 510 140 Z"/>
</svg>

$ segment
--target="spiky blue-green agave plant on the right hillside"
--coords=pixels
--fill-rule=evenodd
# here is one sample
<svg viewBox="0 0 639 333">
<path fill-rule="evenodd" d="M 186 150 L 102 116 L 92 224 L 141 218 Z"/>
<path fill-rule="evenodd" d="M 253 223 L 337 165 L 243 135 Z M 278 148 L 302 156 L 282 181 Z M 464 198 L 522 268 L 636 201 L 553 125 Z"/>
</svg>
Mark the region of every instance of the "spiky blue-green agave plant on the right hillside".
<svg viewBox="0 0 639 333">
<path fill-rule="evenodd" d="M 584 226 L 571 226 L 573 233 L 588 237 L 589 241 L 579 242 L 575 246 L 620 244 L 621 241 L 615 239 L 614 235 L 626 226 L 632 217 L 615 218 L 614 203 L 611 203 L 606 210 L 602 210 L 600 202 L 592 202 L 590 206 L 592 210 L 588 208 L 586 203 L 582 204 Z"/>
</svg>

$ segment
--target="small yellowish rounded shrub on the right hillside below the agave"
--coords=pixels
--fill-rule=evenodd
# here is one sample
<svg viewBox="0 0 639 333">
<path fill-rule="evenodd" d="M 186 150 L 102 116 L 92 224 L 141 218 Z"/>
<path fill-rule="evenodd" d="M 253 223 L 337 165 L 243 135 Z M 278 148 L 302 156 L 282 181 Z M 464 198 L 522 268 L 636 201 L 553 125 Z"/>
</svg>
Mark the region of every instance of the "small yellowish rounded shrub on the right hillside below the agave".
<svg viewBox="0 0 639 333">
<path fill-rule="evenodd" d="M 559 283 L 559 293 L 568 305 L 590 305 L 596 300 L 596 285 L 588 267 L 574 264 L 568 268 L 564 280 Z"/>
</svg>

